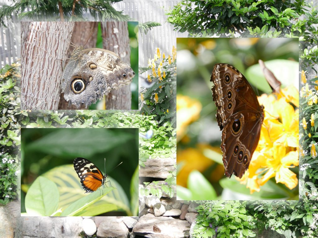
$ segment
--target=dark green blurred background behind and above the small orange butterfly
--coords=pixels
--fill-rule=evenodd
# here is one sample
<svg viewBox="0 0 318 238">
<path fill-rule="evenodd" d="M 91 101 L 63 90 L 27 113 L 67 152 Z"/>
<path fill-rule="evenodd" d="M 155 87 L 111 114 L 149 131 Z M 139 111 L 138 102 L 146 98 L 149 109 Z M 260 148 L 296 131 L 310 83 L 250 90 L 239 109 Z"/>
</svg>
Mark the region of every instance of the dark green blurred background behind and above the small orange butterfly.
<svg viewBox="0 0 318 238">
<path fill-rule="evenodd" d="M 138 167 L 138 146 L 137 128 L 22 128 L 21 212 L 25 212 L 25 192 L 38 176 L 60 165 L 73 166 L 77 157 L 90 160 L 104 175 L 106 158 L 106 173 L 121 185 L 130 201 L 131 178 Z"/>
</svg>

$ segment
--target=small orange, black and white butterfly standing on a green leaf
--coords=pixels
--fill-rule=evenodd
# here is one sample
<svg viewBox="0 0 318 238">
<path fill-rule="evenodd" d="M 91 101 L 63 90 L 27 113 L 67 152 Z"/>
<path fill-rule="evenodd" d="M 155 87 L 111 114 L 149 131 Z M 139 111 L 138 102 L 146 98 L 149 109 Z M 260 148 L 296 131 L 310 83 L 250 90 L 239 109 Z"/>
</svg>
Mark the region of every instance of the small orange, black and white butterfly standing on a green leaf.
<svg viewBox="0 0 318 238">
<path fill-rule="evenodd" d="M 108 174 L 103 175 L 95 164 L 85 158 L 74 159 L 74 169 L 80 178 L 85 193 L 92 193 L 105 183 Z"/>
</svg>

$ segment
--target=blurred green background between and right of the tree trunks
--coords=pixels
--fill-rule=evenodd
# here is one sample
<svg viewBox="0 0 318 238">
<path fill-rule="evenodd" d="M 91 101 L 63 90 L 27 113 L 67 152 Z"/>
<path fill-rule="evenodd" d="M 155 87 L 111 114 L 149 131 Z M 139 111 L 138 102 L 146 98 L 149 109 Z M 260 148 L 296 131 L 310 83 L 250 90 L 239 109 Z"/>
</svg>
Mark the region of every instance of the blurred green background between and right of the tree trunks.
<svg viewBox="0 0 318 238">
<path fill-rule="evenodd" d="M 134 70 L 135 77 L 130 83 L 131 88 L 131 110 L 138 109 L 138 22 L 128 22 L 128 34 L 130 44 L 130 67 Z M 97 32 L 97 48 L 103 48 L 103 39 L 101 37 L 100 24 L 98 25 Z M 98 101 L 89 106 L 89 109 L 98 109 Z"/>
</svg>

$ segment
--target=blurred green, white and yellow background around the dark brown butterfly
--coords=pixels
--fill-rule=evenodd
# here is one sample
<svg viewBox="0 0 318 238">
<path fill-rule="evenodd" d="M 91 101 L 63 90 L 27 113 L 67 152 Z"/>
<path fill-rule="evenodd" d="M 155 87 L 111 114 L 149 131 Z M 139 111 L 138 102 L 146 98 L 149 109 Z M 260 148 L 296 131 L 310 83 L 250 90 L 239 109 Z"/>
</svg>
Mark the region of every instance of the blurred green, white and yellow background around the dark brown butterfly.
<svg viewBox="0 0 318 238">
<path fill-rule="evenodd" d="M 258 65 L 260 59 L 280 80 L 282 88 L 287 85 L 298 88 L 298 54 L 298 38 L 177 38 L 177 195 L 190 196 L 189 190 L 193 189 L 201 199 L 206 192 L 209 200 L 211 196 L 223 200 L 259 200 L 261 194 L 255 192 L 254 197 L 250 196 L 246 188 L 246 196 L 225 193 L 219 183 L 225 177 L 220 149 L 222 132 L 215 118 L 211 74 L 215 64 L 227 63 L 247 78 L 257 96 L 271 93 Z M 245 185 L 234 177 L 229 180 L 232 185 L 244 190 Z M 192 186 L 190 181 L 194 178 L 197 180 Z M 211 186 L 216 194 L 211 194 Z M 298 187 L 293 192 L 298 194 Z M 190 200 L 195 199 L 189 196 Z"/>
</svg>

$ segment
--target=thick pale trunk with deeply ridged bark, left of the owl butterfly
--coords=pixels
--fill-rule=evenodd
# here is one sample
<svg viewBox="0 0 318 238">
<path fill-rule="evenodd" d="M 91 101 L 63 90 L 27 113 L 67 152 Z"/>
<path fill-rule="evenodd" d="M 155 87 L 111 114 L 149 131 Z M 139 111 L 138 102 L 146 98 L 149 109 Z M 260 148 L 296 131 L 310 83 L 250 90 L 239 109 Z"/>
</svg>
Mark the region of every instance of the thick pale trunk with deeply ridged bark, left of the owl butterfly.
<svg viewBox="0 0 318 238">
<path fill-rule="evenodd" d="M 69 48 L 73 26 L 72 22 L 30 23 L 26 41 L 21 42 L 21 109 L 58 108 L 61 59 Z"/>
</svg>

